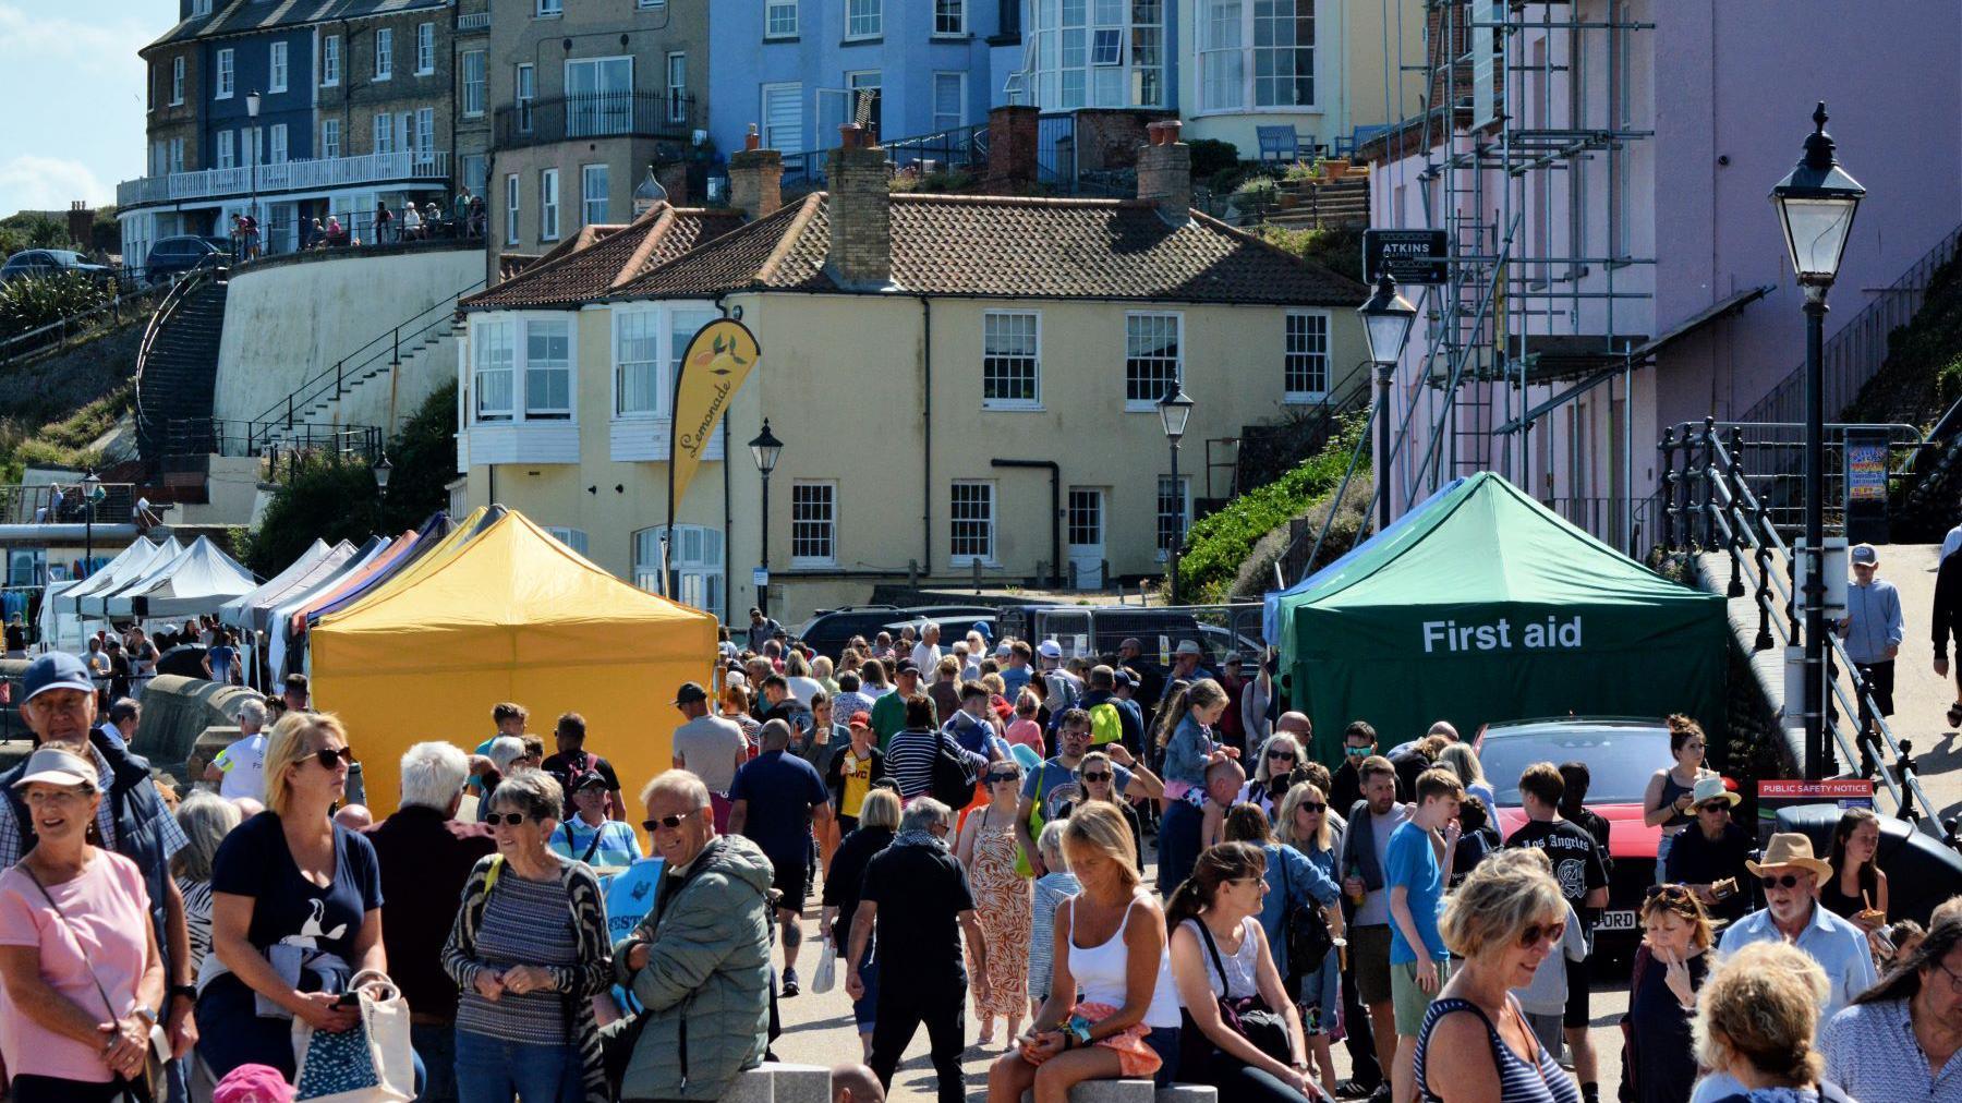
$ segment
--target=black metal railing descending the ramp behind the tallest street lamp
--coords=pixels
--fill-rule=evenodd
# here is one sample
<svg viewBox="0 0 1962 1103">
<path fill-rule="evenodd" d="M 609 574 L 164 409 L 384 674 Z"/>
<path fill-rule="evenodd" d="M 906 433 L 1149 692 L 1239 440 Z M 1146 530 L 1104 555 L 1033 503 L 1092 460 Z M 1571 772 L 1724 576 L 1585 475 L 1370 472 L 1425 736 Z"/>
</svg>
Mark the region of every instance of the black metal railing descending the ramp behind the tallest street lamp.
<svg viewBox="0 0 1962 1103">
<path fill-rule="evenodd" d="M 1740 426 L 1732 426 L 1730 436 L 1732 444 L 1736 444 L 1742 436 Z M 1748 575 L 1752 579 L 1752 601 L 1758 606 L 1756 650 L 1778 646 L 1778 640 L 1772 640 L 1774 624 L 1778 638 L 1783 640 L 1783 646 L 1797 646 L 1801 636 L 1797 628 L 1795 587 L 1787 583 L 1785 577 L 1780 577 L 1780 571 L 1772 567 L 1772 559 L 1778 557 L 1785 563 L 1785 573 L 1789 575 L 1793 563 L 1791 546 L 1787 546 L 1778 534 L 1778 526 L 1770 524 L 1770 510 L 1750 489 L 1750 481 L 1742 471 L 1738 457 L 1732 453 L 1732 447 L 1723 442 L 1721 434 L 1717 434 L 1715 418 L 1703 420 L 1703 434 L 1699 440 L 1685 438 L 1683 444 L 1685 447 L 1703 449 L 1701 473 L 1697 473 L 1697 463 L 1693 459 L 1689 461 L 1687 471 L 1705 483 L 1705 500 L 1701 504 L 1685 504 L 1681 508 L 1703 512 L 1707 520 L 1721 530 L 1725 550 L 1730 553 L 1730 597 L 1744 597 L 1744 577 Z M 1668 481 L 1674 487 L 1678 473 L 1670 471 Z M 1666 510 L 1674 512 L 1676 506 L 1670 504 Z M 1756 553 L 1746 555 L 1746 550 L 1754 550 Z M 1778 603 L 1783 603 L 1785 606 L 1783 616 L 1778 616 Z M 1846 646 L 1836 634 L 1827 632 L 1825 644 L 1829 656 L 1834 657 L 1840 669 L 1856 669 L 1852 656 L 1846 654 Z M 1913 744 L 1901 744 L 1893 736 L 1893 728 L 1887 724 L 1887 718 L 1882 716 L 1880 707 L 1866 683 L 1858 679 L 1858 675 L 1854 675 L 1852 681 L 1852 697 L 1836 677 L 1829 679 L 1827 685 L 1831 695 L 1838 701 L 1842 714 L 1858 716 L 1862 710 L 1860 707 L 1866 707 L 1866 712 L 1872 714 L 1874 726 L 1880 732 L 1880 750 L 1893 756 L 1891 771 L 1885 762 L 1870 760 L 1868 754 L 1864 754 L 1868 742 L 1864 736 L 1850 742 L 1836 720 L 1829 720 L 1827 724 L 1833 732 L 1833 742 L 1840 748 L 1840 754 L 1846 756 L 1846 762 L 1860 760 L 1862 763 L 1874 763 L 1874 773 L 1878 773 L 1880 783 L 1887 789 L 1887 795 L 1893 797 L 1897 816 L 1915 820 L 1927 818 L 1915 811 L 1917 801 L 1921 809 L 1927 809 L 1933 816 L 1938 807 L 1929 801 L 1927 791 L 1921 787 L 1921 779 L 1915 777 L 1911 756 Z"/>
</svg>

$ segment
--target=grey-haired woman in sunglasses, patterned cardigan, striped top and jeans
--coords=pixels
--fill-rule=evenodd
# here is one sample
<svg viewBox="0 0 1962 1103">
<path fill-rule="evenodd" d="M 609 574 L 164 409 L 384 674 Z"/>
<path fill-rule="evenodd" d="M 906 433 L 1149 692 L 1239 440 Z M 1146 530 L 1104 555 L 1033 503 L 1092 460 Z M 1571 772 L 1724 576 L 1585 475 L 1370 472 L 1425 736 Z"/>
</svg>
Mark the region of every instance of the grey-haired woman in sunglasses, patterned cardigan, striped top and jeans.
<svg viewBox="0 0 1962 1103">
<path fill-rule="evenodd" d="M 457 1095 L 471 1103 L 606 1097 L 593 997 L 612 981 L 600 883 L 561 858 L 557 779 L 512 773 L 490 797 L 496 854 L 477 860 L 443 944 L 457 1001 Z"/>
</svg>

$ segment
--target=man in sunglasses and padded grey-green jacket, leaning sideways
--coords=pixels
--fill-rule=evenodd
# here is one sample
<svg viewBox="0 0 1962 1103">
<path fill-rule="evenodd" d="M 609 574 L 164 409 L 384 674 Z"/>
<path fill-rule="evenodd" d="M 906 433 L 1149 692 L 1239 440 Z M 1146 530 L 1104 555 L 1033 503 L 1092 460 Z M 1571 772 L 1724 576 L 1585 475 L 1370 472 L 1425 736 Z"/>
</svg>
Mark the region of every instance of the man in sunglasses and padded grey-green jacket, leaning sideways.
<svg viewBox="0 0 1962 1103">
<path fill-rule="evenodd" d="M 614 946 L 614 983 L 644 1011 L 602 1036 L 610 1052 L 632 1046 L 620 1099 L 718 1099 L 763 1064 L 773 867 L 748 838 L 716 834 L 708 787 L 687 769 L 640 799 L 667 866 L 647 919 Z"/>
</svg>

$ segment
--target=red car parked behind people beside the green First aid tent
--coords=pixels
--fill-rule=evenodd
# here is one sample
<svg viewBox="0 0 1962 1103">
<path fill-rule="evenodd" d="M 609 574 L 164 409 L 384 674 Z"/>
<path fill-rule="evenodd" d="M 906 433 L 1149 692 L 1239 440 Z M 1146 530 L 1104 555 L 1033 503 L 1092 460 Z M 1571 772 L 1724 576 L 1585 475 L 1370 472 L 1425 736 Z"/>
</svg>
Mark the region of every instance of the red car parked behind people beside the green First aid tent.
<svg viewBox="0 0 1962 1103">
<path fill-rule="evenodd" d="M 1607 911 L 1597 932 L 1640 934 L 1642 899 L 1656 879 L 1662 828 L 1642 822 L 1642 793 L 1658 769 L 1674 762 L 1670 730 L 1658 720 L 1564 716 L 1487 724 L 1472 744 L 1485 781 L 1499 797 L 1499 834 L 1511 838 L 1526 813 L 1519 807 L 1519 775 L 1534 762 L 1585 762 L 1591 777 L 1587 809 L 1609 820 Z"/>
</svg>

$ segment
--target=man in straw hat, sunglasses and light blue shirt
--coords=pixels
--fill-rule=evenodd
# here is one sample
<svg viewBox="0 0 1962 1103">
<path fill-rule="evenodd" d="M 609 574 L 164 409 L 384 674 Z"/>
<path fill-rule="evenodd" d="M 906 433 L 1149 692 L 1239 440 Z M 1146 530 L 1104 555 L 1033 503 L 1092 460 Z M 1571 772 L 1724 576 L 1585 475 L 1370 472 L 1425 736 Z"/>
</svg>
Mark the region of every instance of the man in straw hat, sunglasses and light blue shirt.
<svg viewBox="0 0 1962 1103">
<path fill-rule="evenodd" d="M 1833 991 L 1819 1011 L 1819 1023 L 1874 987 L 1874 952 L 1866 934 L 1819 907 L 1813 893 L 1833 867 L 1813 858 L 1813 840 L 1799 832 L 1780 832 L 1764 848 L 1764 862 L 1744 862 L 1744 869 L 1764 889 L 1764 911 L 1754 911 L 1730 924 L 1719 952 L 1729 956 L 1752 942 L 1791 942 L 1805 950 L 1827 972 Z"/>
</svg>

